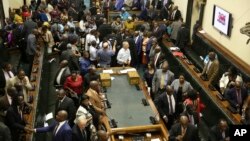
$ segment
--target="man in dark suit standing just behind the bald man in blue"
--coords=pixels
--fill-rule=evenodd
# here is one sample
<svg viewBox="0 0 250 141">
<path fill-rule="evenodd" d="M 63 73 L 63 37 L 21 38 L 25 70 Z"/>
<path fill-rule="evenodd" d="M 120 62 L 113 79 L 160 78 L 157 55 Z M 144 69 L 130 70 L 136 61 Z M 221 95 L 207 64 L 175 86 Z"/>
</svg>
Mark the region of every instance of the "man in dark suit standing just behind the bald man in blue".
<svg viewBox="0 0 250 141">
<path fill-rule="evenodd" d="M 66 96 L 66 92 L 64 89 L 59 89 L 57 91 L 55 113 L 61 110 L 67 111 L 67 113 L 69 114 L 68 116 L 69 125 L 73 127 L 76 108 L 74 105 L 74 101 Z"/>
</svg>

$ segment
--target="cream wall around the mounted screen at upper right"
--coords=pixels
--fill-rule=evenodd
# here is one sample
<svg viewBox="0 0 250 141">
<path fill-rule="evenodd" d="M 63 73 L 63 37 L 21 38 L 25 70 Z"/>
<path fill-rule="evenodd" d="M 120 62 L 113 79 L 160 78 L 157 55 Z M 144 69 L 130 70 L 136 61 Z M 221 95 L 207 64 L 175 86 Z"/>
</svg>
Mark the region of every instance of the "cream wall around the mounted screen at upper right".
<svg viewBox="0 0 250 141">
<path fill-rule="evenodd" d="M 232 13 L 233 28 L 230 38 L 221 35 L 212 26 L 214 4 Z M 250 65 L 250 43 L 246 45 L 246 41 L 249 37 L 240 33 L 240 28 L 243 27 L 246 22 L 250 22 L 250 0 L 207 0 L 203 19 L 204 30 Z"/>
</svg>

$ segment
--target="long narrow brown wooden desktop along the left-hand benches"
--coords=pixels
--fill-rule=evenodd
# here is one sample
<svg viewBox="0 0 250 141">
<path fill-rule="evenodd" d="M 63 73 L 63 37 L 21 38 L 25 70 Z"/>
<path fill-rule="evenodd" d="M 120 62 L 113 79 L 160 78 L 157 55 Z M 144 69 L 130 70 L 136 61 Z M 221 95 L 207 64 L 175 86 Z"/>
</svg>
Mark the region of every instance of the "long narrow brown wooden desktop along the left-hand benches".
<svg viewBox="0 0 250 141">
<path fill-rule="evenodd" d="M 28 124 L 31 128 L 34 127 L 35 119 L 36 119 L 37 102 L 38 102 L 38 95 L 39 95 L 39 91 L 40 91 L 40 81 L 41 81 L 41 74 L 42 74 L 43 58 L 44 58 L 44 48 L 43 48 L 43 46 L 41 46 L 40 56 L 34 57 L 34 62 L 32 65 L 32 73 L 31 73 L 31 76 L 33 75 L 36 77 L 35 81 L 31 82 L 31 84 L 32 85 L 35 84 L 36 87 L 35 87 L 35 90 L 28 92 L 28 95 L 33 96 L 33 103 L 31 103 L 31 105 L 33 107 L 32 111 L 29 115 L 26 115 L 26 119 L 27 119 Z M 36 60 L 38 60 L 38 62 Z M 37 68 L 36 72 L 33 72 L 34 68 Z M 33 134 L 27 134 L 26 141 L 32 141 L 32 140 L 33 140 Z"/>
</svg>

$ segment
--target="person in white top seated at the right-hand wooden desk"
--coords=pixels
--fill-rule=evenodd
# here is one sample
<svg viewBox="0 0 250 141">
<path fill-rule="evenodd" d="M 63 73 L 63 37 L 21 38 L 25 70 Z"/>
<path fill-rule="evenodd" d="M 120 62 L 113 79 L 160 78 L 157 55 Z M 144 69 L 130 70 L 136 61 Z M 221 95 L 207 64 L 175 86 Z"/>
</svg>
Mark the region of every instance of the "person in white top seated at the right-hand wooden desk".
<svg viewBox="0 0 250 141">
<path fill-rule="evenodd" d="M 242 84 L 242 78 L 238 75 L 237 69 L 235 67 L 230 67 L 228 72 L 225 72 L 220 79 L 221 94 L 225 94 L 229 89 L 233 88 L 236 81 Z"/>
</svg>

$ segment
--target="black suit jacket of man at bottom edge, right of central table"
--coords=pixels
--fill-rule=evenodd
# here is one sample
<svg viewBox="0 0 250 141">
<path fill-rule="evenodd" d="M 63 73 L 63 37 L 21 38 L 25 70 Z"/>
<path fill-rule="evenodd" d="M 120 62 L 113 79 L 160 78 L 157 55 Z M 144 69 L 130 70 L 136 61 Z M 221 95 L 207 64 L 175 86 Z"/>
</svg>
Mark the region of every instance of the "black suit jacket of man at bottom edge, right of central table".
<svg viewBox="0 0 250 141">
<path fill-rule="evenodd" d="M 181 135 L 181 124 L 176 123 L 172 126 L 171 130 L 169 131 L 169 141 L 176 141 L 176 137 Z M 198 130 L 194 125 L 188 124 L 186 133 L 183 137 L 182 141 L 199 141 Z"/>
</svg>

